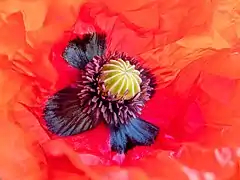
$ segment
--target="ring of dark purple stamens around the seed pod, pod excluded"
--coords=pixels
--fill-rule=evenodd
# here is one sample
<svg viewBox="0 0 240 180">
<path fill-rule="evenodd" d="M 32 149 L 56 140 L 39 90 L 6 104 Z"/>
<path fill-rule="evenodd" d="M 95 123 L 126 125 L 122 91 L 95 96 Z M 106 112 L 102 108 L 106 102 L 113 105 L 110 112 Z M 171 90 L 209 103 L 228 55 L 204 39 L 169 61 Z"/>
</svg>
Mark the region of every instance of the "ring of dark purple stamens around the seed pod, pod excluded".
<svg viewBox="0 0 240 180">
<path fill-rule="evenodd" d="M 80 106 L 86 109 L 91 109 L 93 116 L 103 119 L 109 125 L 118 126 L 119 123 L 124 124 L 132 118 L 136 118 L 141 114 L 141 110 L 149 100 L 153 88 L 150 86 L 151 80 L 147 76 L 141 74 L 141 92 L 135 95 L 130 100 L 116 100 L 116 98 L 108 94 L 102 94 L 99 90 L 99 74 L 101 67 L 106 64 L 110 59 L 125 58 L 125 55 L 113 54 L 109 57 L 94 57 L 94 59 L 85 66 L 84 75 L 82 80 L 79 81 L 81 91 L 78 93 L 81 99 Z M 127 58 L 133 62 L 134 60 Z M 136 69 L 142 68 L 136 65 Z M 92 71 L 94 70 L 94 71 Z M 104 84 L 101 85 L 105 89 Z M 84 109 L 85 109 L 84 108 Z M 101 112 L 101 116 L 99 116 Z M 97 115 L 96 115 L 97 113 Z"/>
</svg>

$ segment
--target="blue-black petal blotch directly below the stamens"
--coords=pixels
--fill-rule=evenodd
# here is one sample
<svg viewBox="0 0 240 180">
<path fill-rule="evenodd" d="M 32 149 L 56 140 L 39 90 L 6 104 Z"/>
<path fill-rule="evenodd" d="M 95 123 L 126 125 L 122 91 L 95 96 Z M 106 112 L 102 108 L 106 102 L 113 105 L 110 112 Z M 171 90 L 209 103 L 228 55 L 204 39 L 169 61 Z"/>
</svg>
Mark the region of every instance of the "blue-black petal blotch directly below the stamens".
<svg viewBox="0 0 240 180">
<path fill-rule="evenodd" d="M 154 143 L 159 128 L 140 118 L 129 120 L 118 127 L 111 126 L 111 148 L 118 153 L 126 153 L 135 146 L 149 146 Z"/>
</svg>

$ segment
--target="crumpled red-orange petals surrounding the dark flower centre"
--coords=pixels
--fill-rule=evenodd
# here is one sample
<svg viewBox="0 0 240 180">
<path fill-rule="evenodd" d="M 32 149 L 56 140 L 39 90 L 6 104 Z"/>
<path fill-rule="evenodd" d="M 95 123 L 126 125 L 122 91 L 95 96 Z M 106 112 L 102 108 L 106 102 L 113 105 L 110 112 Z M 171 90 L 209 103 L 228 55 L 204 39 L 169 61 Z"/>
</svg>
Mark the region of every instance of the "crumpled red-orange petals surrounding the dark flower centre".
<svg viewBox="0 0 240 180">
<path fill-rule="evenodd" d="M 238 0 L 1 1 L 0 179 L 240 179 L 239 20 Z M 117 155 L 104 127 L 61 139 L 39 116 L 77 75 L 66 43 L 97 28 L 154 69 L 151 147 Z"/>
</svg>

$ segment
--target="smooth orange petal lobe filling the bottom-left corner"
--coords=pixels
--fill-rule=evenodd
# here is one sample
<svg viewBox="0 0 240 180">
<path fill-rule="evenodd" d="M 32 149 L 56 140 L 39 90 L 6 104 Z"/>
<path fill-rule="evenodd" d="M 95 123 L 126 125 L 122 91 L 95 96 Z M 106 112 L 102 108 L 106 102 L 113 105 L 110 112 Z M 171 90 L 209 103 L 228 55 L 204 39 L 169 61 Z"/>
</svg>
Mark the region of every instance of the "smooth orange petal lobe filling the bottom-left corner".
<svg viewBox="0 0 240 180">
<path fill-rule="evenodd" d="M 47 163 L 38 144 L 30 134 L 9 122 L 1 112 L 0 177 L 2 179 L 42 180 L 47 178 Z"/>
</svg>

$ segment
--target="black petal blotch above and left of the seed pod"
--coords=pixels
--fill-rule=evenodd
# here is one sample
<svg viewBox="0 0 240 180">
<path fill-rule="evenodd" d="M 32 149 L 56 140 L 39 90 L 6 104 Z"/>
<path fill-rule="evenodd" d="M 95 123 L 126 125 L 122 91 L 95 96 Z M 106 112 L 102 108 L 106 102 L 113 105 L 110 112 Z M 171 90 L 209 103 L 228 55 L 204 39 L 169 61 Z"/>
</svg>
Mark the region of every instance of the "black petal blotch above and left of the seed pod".
<svg viewBox="0 0 240 180">
<path fill-rule="evenodd" d="M 63 58 L 73 67 L 83 69 L 94 56 L 102 56 L 106 49 L 106 35 L 85 34 L 69 42 Z"/>
</svg>

